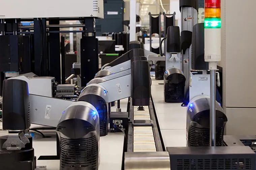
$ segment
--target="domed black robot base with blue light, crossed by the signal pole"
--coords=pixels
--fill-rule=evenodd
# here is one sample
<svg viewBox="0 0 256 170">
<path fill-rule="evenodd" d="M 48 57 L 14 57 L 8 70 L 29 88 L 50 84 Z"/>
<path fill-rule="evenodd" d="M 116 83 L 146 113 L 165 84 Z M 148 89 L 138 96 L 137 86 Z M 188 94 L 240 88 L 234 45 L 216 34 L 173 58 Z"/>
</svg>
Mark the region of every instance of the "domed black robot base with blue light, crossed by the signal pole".
<svg viewBox="0 0 256 170">
<path fill-rule="evenodd" d="M 216 146 L 224 146 L 223 135 L 227 117 L 216 102 Z M 188 146 L 210 146 L 210 98 L 199 97 L 187 107 Z"/>
</svg>

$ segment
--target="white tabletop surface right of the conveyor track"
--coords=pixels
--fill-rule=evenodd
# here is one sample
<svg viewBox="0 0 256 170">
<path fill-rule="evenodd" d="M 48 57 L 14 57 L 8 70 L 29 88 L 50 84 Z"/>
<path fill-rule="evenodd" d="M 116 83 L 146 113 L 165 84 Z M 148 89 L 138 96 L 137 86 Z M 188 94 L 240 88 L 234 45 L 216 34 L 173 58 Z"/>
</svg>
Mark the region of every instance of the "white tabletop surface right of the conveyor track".
<svg viewBox="0 0 256 170">
<path fill-rule="evenodd" d="M 181 103 L 165 103 L 163 80 L 155 77 L 152 77 L 151 94 L 165 148 L 185 147 L 186 107 L 181 107 Z"/>
</svg>

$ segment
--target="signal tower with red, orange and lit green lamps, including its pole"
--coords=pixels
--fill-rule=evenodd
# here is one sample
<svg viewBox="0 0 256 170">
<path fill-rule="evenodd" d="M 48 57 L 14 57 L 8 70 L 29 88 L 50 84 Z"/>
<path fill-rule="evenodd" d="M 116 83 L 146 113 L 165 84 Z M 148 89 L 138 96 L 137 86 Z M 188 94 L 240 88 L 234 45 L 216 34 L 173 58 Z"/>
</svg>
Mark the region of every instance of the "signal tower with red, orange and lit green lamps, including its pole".
<svg viewBox="0 0 256 170">
<path fill-rule="evenodd" d="M 211 74 L 210 146 L 216 145 L 216 70 L 221 61 L 221 0 L 205 0 L 204 61 Z"/>
</svg>

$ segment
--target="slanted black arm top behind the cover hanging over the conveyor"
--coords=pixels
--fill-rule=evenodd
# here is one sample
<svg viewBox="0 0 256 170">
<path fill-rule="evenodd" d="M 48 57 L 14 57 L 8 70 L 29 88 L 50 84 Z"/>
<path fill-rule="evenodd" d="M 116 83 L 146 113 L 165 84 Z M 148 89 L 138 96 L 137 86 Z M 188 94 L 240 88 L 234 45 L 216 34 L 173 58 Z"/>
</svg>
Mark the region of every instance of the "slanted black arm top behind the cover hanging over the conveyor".
<svg viewBox="0 0 256 170">
<path fill-rule="evenodd" d="M 110 62 L 107 66 L 113 67 L 113 66 L 121 64 L 125 61 L 131 60 L 132 57 L 134 57 L 134 56 L 144 56 L 144 50 L 140 49 L 140 48 L 135 48 L 135 49 L 129 50 L 128 52 L 121 55 L 114 61 Z"/>
</svg>

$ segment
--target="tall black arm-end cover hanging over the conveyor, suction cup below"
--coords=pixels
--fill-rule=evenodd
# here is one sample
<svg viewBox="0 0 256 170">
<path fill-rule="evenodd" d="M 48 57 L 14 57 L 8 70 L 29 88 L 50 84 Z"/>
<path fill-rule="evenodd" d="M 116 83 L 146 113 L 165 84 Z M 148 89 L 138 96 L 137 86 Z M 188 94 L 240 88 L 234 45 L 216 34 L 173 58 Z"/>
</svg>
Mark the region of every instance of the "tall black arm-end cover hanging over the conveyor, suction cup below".
<svg viewBox="0 0 256 170">
<path fill-rule="evenodd" d="M 132 105 L 149 106 L 151 94 L 149 62 L 136 60 L 132 65 Z"/>
</svg>

